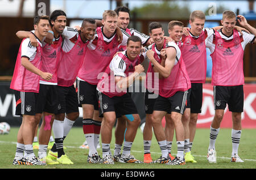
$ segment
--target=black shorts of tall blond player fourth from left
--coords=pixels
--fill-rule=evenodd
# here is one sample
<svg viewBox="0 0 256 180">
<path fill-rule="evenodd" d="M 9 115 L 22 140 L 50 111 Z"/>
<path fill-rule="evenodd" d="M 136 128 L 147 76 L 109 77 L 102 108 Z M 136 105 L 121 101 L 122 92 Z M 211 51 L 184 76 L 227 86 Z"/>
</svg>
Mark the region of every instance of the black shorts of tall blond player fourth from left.
<svg viewBox="0 0 256 180">
<path fill-rule="evenodd" d="M 82 104 L 91 104 L 94 106 L 94 110 L 98 110 L 97 85 L 79 79 L 76 80 L 76 84 L 79 106 L 81 107 Z"/>
</svg>

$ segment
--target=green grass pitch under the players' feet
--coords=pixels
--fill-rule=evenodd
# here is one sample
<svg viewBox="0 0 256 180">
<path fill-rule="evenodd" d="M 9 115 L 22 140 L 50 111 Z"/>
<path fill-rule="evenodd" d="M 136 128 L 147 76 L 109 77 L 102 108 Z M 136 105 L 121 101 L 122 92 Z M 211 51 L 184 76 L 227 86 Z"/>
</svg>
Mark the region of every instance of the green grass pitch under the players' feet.
<svg viewBox="0 0 256 180">
<path fill-rule="evenodd" d="M 47 165 L 47 166 L 26 166 L 12 165 L 16 149 L 16 135 L 19 127 L 11 127 L 9 135 L 0 135 L 0 169 L 126 169 L 126 170 L 150 170 L 150 169 L 255 169 L 256 168 L 256 130 L 243 129 L 240 140 L 239 156 L 244 160 L 243 163 L 230 162 L 232 153 L 231 129 L 222 128 L 216 140 L 217 164 L 209 164 L 206 159 L 209 145 L 209 129 L 198 128 L 193 142 L 192 155 L 197 163 L 187 163 L 184 166 L 170 166 L 164 164 L 122 164 L 116 162 L 114 165 L 89 164 L 87 160 L 88 149 L 80 149 L 79 146 L 84 142 L 85 137 L 82 127 L 73 127 L 67 138 L 64 140 L 65 153 L 74 162 L 73 165 Z M 160 148 L 153 136 L 151 143 L 151 157 L 156 159 L 161 156 Z M 176 139 L 172 143 L 172 155 L 177 153 Z M 112 153 L 114 152 L 114 130 L 111 144 Z M 98 153 L 102 157 L 101 149 Z M 131 154 L 135 158 L 143 161 L 143 136 L 140 129 L 137 131 Z M 38 150 L 35 150 L 38 155 Z M 100 175 L 100 174 L 99 174 Z M 106 174 L 102 174 L 106 175 Z"/>
</svg>

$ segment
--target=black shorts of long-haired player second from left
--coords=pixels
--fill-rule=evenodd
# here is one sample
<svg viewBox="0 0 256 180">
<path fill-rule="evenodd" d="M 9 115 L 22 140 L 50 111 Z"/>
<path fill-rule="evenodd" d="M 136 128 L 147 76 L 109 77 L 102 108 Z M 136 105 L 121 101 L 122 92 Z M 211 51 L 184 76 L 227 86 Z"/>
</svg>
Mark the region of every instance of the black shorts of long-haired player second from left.
<svg viewBox="0 0 256 180">
<path fill-rule="evenodd" d="M 57 114 L 58 93 L 57 85 L 40 84 L 36 113 Z"/>
</svg>

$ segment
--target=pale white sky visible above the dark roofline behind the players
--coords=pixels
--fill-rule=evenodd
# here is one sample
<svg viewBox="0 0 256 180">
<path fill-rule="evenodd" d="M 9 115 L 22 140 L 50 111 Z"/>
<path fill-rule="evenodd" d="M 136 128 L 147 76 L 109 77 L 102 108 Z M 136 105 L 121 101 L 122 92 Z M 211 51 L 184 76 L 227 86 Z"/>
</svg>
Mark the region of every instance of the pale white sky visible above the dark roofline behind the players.
<svg viewBox="0 0 256 180">
<path fill-rule="evenodd" d="M 129 8 L 141 7 L 145 3 L 153 3 L 156 1 L 140 1 L 140 0 L 123 0 L 123 4 L 129 3 Z M 216 3 L 230 7 L 230 10 L 236 12 L 240 9 L 240 14 L 249 11 L 247 1 L 178 1 L 180 6 L 188 5 L 191 11 L 202 10 L 208 8 L 209 3 Z M 0 16 L 16 16 L 19 9 L 19 0 L 0 0 Z M 68 18 L 101 18 L 104 10 L 110 8 L 108 0 L 51 0 L 51 11 L 63 9 Z M 112 2 L 112 9 L 115 8 L 115 0 Z M 35 0 L 26 0 L 24 2 L 24 16 L 34 16 Z M 256 11 L 256 2 L 254 3 L 254 12 Z"/>
</svg>

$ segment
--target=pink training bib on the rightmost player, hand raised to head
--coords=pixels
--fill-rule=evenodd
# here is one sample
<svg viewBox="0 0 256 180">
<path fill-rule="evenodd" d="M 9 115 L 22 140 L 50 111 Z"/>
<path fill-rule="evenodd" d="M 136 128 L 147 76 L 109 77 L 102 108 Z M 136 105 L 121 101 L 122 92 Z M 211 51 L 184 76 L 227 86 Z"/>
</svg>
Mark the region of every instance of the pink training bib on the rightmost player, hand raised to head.
<svg viewBox="0 0 256 180">
<path fill-rule="evenodd" d="M 241 85 L 245 83 L 243 76 L 243 48 L 240 36 L 234 29 L 233 39 L 224 40 L 215 31 L 215 49 L 212 57 L 212 85 Z"/>
</svg>

